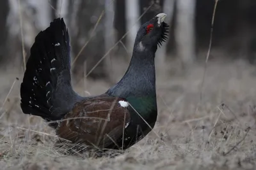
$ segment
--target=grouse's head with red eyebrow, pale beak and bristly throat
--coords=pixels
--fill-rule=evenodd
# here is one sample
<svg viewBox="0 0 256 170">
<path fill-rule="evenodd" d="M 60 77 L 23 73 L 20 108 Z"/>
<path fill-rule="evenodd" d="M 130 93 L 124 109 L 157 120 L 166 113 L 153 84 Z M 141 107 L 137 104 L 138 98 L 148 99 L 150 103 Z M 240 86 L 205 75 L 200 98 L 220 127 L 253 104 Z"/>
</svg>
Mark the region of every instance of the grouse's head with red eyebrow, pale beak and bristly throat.
<svg viewBox="0 0 256 170">
<path fill-rule="evenodd" d="M 156 50 L 157 45 L 161 46 L 163 41 L 166 41 L 169 25 L 164 22 L 165 17 L 165 13 L 159 13 L 156 17 L 141 25 L 135 40 L 134 48 L 137 48 L 136 50 Z"/>
</svg>

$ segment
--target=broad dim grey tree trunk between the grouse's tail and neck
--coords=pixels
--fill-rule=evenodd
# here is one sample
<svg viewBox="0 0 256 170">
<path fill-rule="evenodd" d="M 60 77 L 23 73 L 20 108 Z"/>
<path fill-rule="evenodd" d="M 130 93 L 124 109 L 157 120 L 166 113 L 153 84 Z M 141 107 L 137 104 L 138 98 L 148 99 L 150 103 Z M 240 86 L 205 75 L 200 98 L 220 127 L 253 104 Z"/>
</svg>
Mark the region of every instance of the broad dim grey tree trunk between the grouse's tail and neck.
<svg viewBox="0 0 256 170">
<path fill-rule="evenodd" d="M 81 79 L 81 77 L 83 77 L 85 60 L 86 71 L 84 74 L 88 74 L 90 72 L 88 77 L 95 79 L 106 78 L 107 76 L 104 68 L 104 60 L 93 69 L 105 54 L 104 16 L 99 21 L 95 32 L 92 32 L 103 10 L 104 0 L 80 1 L 76 17 L 77 35 L 76 39 L 72 40 L 74 57 L 79 55 L 73 67 L 73 73 L 76 74 L 76 78 Z M 82 50 L 87 41 L 89 41 L 89 43 Z M 81 53 L 79 54 L 80 51 Z"/>
</svg>

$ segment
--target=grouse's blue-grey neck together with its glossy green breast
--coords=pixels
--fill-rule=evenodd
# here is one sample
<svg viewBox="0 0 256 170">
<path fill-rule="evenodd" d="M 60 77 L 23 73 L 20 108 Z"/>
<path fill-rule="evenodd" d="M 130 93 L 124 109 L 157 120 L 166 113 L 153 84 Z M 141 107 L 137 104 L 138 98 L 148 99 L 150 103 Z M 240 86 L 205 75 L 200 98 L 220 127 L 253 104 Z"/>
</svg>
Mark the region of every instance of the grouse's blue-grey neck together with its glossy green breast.
<svg viewBox="0 0 256 170">
<path fill-rule="evenodd" d="M 154 52 L 134 51 L 124 77 L 106 92 L 126 99 L 133 110 L 138 111 L 148 122 L 155 122 L 157 114 L 154 57 Z M 134 119 L 142 121 L 134 111 L 132 115 Z"/>
</svg>

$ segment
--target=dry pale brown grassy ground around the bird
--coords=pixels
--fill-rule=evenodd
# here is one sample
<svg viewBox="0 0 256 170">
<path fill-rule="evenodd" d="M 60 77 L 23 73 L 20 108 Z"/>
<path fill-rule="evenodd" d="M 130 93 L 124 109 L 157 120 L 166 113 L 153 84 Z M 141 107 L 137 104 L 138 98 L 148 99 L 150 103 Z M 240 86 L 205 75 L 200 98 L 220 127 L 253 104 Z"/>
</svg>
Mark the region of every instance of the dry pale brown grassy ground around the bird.
<svg viewBox="0 0 256 170">
<path fill-rule="evenodd" d="M 112 72 L 114 81 L 122 71 Z M 54 131 L 41 118 L 22 114 L 19 85 L 22 75 L 0 74 L 1 169 L 254 169 L 256 163 L 255 68 L 244 62 L 209 62 L 187 74 L 168 64 L 157 71 L 159 115 L 154 131 L 115 158 L 64 155 L 54 147 Z M 79 93 L 100 94 L 103 81 L 81 81 Z M 202 99 L 200 99 L 202 92 Z M 250 127 L 250 128 L 248 128 Z"/>
</svg>

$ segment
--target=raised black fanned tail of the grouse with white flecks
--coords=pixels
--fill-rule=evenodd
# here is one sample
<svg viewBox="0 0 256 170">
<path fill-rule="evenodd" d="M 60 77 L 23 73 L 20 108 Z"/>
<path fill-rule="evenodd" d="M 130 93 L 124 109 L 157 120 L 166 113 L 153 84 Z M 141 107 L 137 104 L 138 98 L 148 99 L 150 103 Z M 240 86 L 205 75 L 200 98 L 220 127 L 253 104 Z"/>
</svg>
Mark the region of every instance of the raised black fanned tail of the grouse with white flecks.
<svg viewBox="0 0 256 170">
<path fill-rule="evenodd" d="M 31 47 L 20 86 L 26 114 L 60 120 L 82 97 L 71 86 L 69 36 L 63 18 L 41 31 Z"/>
</svg>

